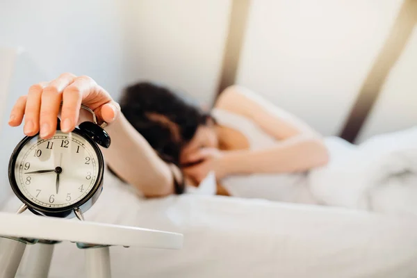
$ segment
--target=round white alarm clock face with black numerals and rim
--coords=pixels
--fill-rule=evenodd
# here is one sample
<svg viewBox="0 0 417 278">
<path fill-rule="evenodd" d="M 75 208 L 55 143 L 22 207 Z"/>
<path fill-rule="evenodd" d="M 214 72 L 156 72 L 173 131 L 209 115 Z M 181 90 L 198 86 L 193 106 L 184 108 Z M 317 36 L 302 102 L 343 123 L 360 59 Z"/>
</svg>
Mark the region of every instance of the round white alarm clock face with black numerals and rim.
<svg viewBox="0 0 417 278">
<path fill-rule="evenodd" d="M 99 149 L 78 133 L 35 136 L 17 151 L 13 175 L 24 199 L 44 209 L 62 209 L 87 198 L 101 181 Z M 15 190 L 16 192 L 16 190 Z M 21 198 L 22 199 L 22 198 Z"/>
</svg>

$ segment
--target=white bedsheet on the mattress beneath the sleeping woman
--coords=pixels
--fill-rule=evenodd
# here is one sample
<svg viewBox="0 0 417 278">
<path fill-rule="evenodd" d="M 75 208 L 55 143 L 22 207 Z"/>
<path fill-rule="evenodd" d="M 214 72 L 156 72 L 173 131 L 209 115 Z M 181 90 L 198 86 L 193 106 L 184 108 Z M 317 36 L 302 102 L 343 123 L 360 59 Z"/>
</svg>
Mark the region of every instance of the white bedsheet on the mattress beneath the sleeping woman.
<svg viewBox="0 0 417 278">
<path fill-rule="evenodd" d="M 417 277 L 414 218 L 232 197 L 145 200 L 113 177 L 85 216 L 185 235 L 179 251 L 112 247 L 113 277 Z M 83 277 L 83 262 L 74 244 L 57 245 L 50 277 Z"/>
</svg>

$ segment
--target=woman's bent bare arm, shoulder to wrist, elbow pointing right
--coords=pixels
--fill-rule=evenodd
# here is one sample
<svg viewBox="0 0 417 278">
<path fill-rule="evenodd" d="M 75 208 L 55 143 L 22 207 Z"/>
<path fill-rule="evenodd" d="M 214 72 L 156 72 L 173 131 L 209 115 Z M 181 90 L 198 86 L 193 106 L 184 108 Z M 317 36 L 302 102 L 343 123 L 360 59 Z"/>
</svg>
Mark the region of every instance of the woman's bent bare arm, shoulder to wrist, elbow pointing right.
<svg viewBox="0 0 417 278">
<path fill-rule="evenodd" d="M 328 161 L 327 148 L 318 132 L 246 88 L 227 88 L 216 107 L 249 117 L 279 140 L 268 149 L 225 152 L 219 162 L 223 175 L 300 172 Z"/>
</svg>

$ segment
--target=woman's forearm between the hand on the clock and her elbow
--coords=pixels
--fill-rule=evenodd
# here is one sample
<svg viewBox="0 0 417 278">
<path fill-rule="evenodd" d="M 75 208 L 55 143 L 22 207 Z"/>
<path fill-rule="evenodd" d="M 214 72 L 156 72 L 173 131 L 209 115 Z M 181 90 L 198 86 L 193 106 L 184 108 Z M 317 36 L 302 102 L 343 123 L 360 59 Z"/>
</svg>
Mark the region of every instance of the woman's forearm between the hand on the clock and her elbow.
<svg viewBox="0 0 417 278">
<path fill-rule="evenodd" d="M 103 149 L 106 162 L 124 181 L 146 196 L 173 192 L 172 171 L 124 115 L 106 127 L 111 147 Z"/>
</svg>

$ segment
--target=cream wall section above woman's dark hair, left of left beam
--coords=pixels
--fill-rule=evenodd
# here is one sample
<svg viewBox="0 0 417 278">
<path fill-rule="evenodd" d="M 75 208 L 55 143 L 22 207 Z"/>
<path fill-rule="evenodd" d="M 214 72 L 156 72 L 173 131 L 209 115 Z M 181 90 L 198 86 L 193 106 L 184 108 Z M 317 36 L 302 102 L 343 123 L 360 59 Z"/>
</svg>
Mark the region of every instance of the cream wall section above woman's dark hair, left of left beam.
<svg viewBox="0 0 417 278">
<path fill-rule="evenodd" d="M 218 85 L 230 0 L 130 1 L 129 81 L 151 79 L 211 102 Z"/>
</svg>

